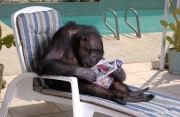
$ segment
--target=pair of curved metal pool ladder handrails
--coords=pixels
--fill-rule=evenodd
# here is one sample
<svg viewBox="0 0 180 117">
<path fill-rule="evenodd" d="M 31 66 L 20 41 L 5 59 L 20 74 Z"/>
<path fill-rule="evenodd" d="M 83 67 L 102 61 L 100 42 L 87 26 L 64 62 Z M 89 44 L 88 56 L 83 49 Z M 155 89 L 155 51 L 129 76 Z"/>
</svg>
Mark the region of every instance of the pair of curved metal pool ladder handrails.
<svg viewBox="0 0 180 117">
<path fill-rule="evenodd" d="M 137 28 L 138 30 L 136 30 L 131 24 L 129 24 L 129 22 L 127 21 L 127 12 L 128 10 L 131 10 L 135 13 L 136 15 L 136 23 L 137 23 Z M 114 15 L 114 18 L 115 18 L 115 25 L 116 25 L 116 32 L 109 26 L 109 24 L 107 23 L 106 21 L 106 15 L 107 15 L 107 11 L 110 11 L 113 13 Z M 126 24 L 132 28 L 135 33 L 136 33 L 136 36 L 141 38 L 141 32 L 140 32 L 140 25 L 139 25 L 139 16 L 138 16 L 138 13 L 136 12 L 136 10 L 134 10 L 133 8 L 129 8 L 129 9 L 126 9 L 125 13 L 124 13 L 124 19 L 125 19 L 125 22 Z M 118 26 L 118 18 L 117 18 L 117 15 L 116 15 L 116 12 L 110 8 L 107 8 L 105 9 L 105 12 L 104 12 L 104 23 L 105 25 L 113 32 L 114 34 L 114 37 L 117 38 L 117 40 L 120 40 L 120 36 L 119 36 L 119 26 Z"/>
</svg>

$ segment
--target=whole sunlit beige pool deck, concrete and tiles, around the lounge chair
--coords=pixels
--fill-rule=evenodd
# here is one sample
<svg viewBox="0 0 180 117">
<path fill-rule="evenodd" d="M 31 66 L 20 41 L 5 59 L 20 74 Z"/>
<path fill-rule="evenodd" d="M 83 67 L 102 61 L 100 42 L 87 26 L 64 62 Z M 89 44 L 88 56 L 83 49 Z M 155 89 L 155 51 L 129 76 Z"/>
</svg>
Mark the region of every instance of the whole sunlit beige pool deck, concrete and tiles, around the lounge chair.
<svg viewBox="0 0 180 117">
<path fill-rule="evenodd" d="M 2 22 L 0 22 L 2 24 Z M 12 30 L 2 24 L 6 34 Z M 3 34 L 5 35 L 5 33 Z M 121 59 L 126 71 L 126 84 L 139 88 L 151 87 L 151 90 L 180 99 L 180 75 L 170 74 L 166 69 L 152 69 L 151 62 L 158 60 L 162 33 L 143 33 L 142 38 L 134 34 L 120 35 L 121 40 L 112 36 L 103 36 L 105 58 Z M 3 48 L 0 52 L 0 62 L 5 65 L 4 79 L 9 83 L 21 73 L 15 47 Z M 6 86 L 7 87 L 7 86 Z M 6 89 L 0 94 L 0 105 Z M 14 99 L 7 117 L 73 117 L 72 107 L 44 101 L 27 102 Z M 109 117 L 95 113 L 94 117 Z"/>
</svg>

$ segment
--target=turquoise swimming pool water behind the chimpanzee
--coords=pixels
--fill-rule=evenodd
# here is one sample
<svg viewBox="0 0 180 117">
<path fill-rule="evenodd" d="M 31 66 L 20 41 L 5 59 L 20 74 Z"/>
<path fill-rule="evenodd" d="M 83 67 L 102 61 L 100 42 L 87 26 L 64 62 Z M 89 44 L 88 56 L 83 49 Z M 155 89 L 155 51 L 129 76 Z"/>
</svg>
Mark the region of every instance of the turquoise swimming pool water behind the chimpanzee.
<svg viewBox="0 0 180 117">
<path fill-rule="evenodd" d="M 146 32 L 162 32 L 162 26 L 160 25 L 160 20 L 163 19 L 164 11 L 163 10 L 137 10 L 139 14 L 139 22 L 141 33 Z M 103 13 L 102 13 L 103 14 Z M 128 27 L 124 21 L 124 11 L 116 11 L 119 22 L 119 31 L 120 34 L 124 33 L 134 33 L 134 31 Z M 133 12 L 128 12 L 128 22 L 136 27 L 136 19 Z M 0 19 L 2 22 L 11 26 L 10 19 Z M 104 24 L 103 16 L 70 16 L 62 17 L 62 23 L 65 24 L 68 21 L 75 21 L 78 24 L 86 24 L 97 27 L 99 32 L 102 35 L 113 34 Z M 168 21 L 174 22 L 173 17 L 169 14 Z M 115 29 L 115 22 L 112 13 L 107 13 L 107 22 L 108 24 Z"/>
</svg>

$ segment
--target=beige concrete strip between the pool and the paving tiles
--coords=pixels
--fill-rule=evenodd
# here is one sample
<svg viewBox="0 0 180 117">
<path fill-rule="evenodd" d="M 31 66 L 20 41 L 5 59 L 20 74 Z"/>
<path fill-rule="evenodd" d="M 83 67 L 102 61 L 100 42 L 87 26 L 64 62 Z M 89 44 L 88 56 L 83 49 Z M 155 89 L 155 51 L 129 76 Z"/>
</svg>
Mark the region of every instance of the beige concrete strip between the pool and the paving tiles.
<svg viewBox="0 0 180 117">
<path fill-rule="evenodd" d="M 0 24 L 3 28 L 3 35 L 12 34 L 11 28 L 1 21 Z M 120 40 L 117 40 L 113 35 L 103 35 L 104 58 L 107 60 L 121 59 L 124 64 L 159 60 L 161 36 L 161 32 L 142 33 L 141 38 L 136 37 L 135 34 L 121 34 Z M 10 49 L 3 47 L 0 52 L 0 62 L 5 66 L 5 76 L 21 73 L 16 47 Z"/>
</svg>

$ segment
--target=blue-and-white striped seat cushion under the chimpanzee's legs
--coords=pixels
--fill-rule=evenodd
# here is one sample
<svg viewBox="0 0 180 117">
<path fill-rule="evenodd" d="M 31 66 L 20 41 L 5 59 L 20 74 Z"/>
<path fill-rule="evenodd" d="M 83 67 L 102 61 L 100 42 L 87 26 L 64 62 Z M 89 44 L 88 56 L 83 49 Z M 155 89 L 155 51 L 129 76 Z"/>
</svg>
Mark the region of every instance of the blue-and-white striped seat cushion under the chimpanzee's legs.
<svg viewBox="0 0 180 117">
<path fill-rule="evenodd" d="M 133 86 L 129 86 L 129 88 L 133 90 L 139 89 Z M 44 89 L 41 86 L 35 87 L 34 90 L 43 94 L 71 98 L 71 93 L 57 91 L 54 89 Z M 175 117 L 180 115 L 180 100 L 153 91 L 148 91 L 147 93 L 154 94 L 155 98 L 150 102 L 127 103 L 126 105 L 120 105 L 110 100 L 83 94 L 80 95 L 80 99 L 84 102 L 100 105 L 108 109 L 120 111 L 133 116 Z"/>
</svg>

